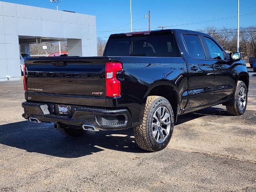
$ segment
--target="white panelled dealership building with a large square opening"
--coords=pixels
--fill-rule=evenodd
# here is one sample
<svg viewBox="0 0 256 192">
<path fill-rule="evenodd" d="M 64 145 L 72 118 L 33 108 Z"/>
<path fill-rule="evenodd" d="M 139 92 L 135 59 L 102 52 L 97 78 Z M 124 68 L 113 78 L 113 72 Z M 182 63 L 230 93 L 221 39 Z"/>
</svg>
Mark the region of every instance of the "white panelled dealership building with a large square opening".
<svg viewBox="0 0 256 192">
<path fill-rule="evenodd" d="M 0 81 L 20 79 L 30 43 L 59 40 L 68 56 L 97 56 L 95 16 L 0 1 Z"/>
</svg>

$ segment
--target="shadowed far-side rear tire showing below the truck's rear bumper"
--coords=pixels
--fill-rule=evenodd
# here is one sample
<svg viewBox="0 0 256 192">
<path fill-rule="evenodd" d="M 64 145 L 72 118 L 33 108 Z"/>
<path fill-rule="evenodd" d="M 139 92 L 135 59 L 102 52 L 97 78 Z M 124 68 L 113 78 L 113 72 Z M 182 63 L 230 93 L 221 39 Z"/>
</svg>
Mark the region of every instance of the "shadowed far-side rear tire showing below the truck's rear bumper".
<svg viewBox="0 0 256 192">
<path fill-rule="evenodd" d="M 62 135 L 70 136 L 70 137 L 80 137 L 86 133 L 86 130 L 74 128 L 75 126 L 67 125 L 67 124 L 60 124 L 56 129 Z"/>
</svg>

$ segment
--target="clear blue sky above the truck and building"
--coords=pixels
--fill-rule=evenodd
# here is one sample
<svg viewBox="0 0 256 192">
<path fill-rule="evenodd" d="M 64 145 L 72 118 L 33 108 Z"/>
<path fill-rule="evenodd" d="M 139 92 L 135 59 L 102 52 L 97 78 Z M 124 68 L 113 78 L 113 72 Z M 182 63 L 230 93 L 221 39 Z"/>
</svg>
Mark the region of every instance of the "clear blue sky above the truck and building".
<svg viewBox="0 0 256 192">
<path fill-rule="evenodd" d="M 56 9 L 49 0 L 4 0 L 6 2 Z M 97 37 L 107 39 L 112 33 L 129 32 L 130 0 L 62 0 L 59 10 L 69 10 L 96 16 Z M 151 27 L 188 24 L 237 15 L 237 0 L 132 0 L 132 20 L 143 18 L 151 12 Z M 256 13 L 256 0 L 240 0 L 240 15 Z M 123 26 L 128 24 L 126 26 Z M 121 28 L 118 28 L 123 26 Z M 235 28 L 237 19 L 218 20 L 169 28 L 189 30 L 206 26 Z M 240 18 L 240 26 L 256 26 L 256 14 Z M 113 32 L 101 32 L 118 28 Z M 133 23 L 133 29 L 148 28 L 148 19 Z"/>
</svg>

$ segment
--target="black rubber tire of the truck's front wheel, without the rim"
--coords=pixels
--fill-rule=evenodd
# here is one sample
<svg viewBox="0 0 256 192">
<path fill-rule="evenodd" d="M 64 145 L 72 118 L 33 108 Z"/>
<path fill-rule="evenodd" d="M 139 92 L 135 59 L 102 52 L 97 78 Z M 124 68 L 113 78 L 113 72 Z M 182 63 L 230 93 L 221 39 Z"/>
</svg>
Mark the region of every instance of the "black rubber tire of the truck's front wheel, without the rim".
<svg viewBox="0 0 256 192">
<path fill-rule="evenodd" d="M 239 102 L 240 102 L 239 101 L 239 91 L 242 87 L 244 88 L 244 90 L 246 92 L 246 104 L 245 104 L 244 108 L 241 110 L 239 108 Z M 246 85 L 244 84 L 244 82 L 238 81 L 237 85 L 236 85 L 235 95 L 234 95 L 234 104 L 232 106 L 226 106 L 226 108 L 230 115 L 238 116 L 238 115 L 244 114 L 244 112 L 246 110 L 246 106 L 247 106 L 247 88 L 246 88 Z"/>
</svg>

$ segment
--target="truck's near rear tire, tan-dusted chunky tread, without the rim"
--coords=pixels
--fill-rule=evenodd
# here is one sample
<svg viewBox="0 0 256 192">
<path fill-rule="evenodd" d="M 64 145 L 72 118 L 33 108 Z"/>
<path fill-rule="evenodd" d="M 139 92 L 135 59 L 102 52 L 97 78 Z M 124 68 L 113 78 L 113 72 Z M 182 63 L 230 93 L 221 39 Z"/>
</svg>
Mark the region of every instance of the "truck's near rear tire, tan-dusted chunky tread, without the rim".
<svg viewBox="0 0 256 192">
<path fill-rule="evenodd" d="M 170 114 L 170 132 L 166 137 L 166 139 L 164 140 L 164 142 L 161 142 L 161 143 L 155 140 L 153 136 L 153 130 L 152 130 L 153 116 L 156 110 L 160 106 L 164 106 Z M 144 150 L 153 151 L 153 152 L 164 149 L 170 142 L 173 128 L 174 128 L 174 114 L 173 114 L 173 110 L 170 102 L 168 102 L 168 100 L 164 97 L 148 96 L 142 124 L 140 126 L 133 128 L 134 137 L 138 146 Z"/>
</svg>

